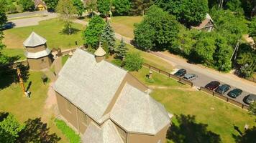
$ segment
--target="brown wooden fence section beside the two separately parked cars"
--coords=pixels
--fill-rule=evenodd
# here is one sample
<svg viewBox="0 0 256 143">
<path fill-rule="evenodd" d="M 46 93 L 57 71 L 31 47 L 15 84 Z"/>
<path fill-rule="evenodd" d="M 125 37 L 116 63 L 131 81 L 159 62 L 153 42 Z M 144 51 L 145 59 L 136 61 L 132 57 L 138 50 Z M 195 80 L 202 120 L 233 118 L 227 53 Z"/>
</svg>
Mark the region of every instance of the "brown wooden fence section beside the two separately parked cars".
<svg viewBox="0 0 256 143">
<path fill-rule="evenodd" d="M 143 66 L 147 67 L 148 69 L 152 70 L 152 71 L 156 71 L 157 73 L 159 74 L 163 74 L 165 75 L 166 77 L 169 77 L 171 79 L 174 79 L 182 84 L 188 84 L 189 86 L 193 87 L 193 82 L 189 81 L 189 80 L 186 80 L 186 79 L 182 79 L 180 77 L 177 77 L 173 74 L 170 74 L 168 73 L 167 71 L 163 71 L 162 69 L 158 69 L 157 67 L 155 66 L 151 66 L 150 64 L 146 64 L 144 63 Z"/>
</svg>

